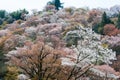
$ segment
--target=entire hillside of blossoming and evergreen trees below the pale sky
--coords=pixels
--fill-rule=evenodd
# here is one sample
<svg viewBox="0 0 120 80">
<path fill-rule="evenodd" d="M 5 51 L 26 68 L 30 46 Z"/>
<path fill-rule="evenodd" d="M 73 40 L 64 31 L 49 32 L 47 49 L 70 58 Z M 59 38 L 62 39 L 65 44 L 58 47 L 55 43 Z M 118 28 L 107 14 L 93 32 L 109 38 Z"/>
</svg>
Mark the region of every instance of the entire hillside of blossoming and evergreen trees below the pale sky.
<svg viewBox="0 0 120 80">
<path fill-rule="evenodd" d="M 120 8 L 0 10 L 0 80 L 120 80 Z M 117 12 L 113 12 L 116 10 Z"/>
</svg>

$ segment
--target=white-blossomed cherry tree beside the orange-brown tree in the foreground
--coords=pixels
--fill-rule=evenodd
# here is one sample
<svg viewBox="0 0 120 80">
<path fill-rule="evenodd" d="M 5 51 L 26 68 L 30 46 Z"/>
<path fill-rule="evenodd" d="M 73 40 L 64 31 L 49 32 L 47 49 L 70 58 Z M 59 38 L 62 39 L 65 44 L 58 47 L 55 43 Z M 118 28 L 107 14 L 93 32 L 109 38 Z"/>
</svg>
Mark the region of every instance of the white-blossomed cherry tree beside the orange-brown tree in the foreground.
<svg viewBox="0 0 120 80">
<path fill-rule="evenodd" d="M 70 39 L 68 36 L 71 36 Z M 74 53 L 64 59 L 62 63 L 64 65 L 76 65 L 81 68 L 89 66 L 88 71 L 94 73 L 95 65 L 112 64 L 111 60 L 116 60 L 115 52 L 107 47 L 103 47 L 100 41 L 101 36 L 94 33 L 91 28 L 78 27 L 77 30 L 67 32 L 65 36 L 66 42 L 69 42 L 71 39 L 76 40 L 77 44 L 69 46 L 73 48 Z M 100 70 L 95 69 L 94 74 L 100 74 L 98 75 L 100 77 L 104 73 L 101 74 Z M 88 75 L 90 77 L 90 74 Z"/>
</svg>

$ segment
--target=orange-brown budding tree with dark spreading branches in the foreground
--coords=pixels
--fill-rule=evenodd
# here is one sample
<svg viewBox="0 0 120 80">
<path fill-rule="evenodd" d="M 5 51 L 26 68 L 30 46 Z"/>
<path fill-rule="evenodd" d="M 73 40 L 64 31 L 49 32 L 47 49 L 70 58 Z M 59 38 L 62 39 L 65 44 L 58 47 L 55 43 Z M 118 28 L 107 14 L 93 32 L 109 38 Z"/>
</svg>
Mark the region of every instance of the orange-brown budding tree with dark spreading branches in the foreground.
<svg viewBox="0 0 120 80">
<path fill-rule="evenodd" d="M 30 78 L 54 79 L 61 71 L 59 52 L 43 43 L 10 51 L 11 64 L 18 66 Z"/>
</svg>

